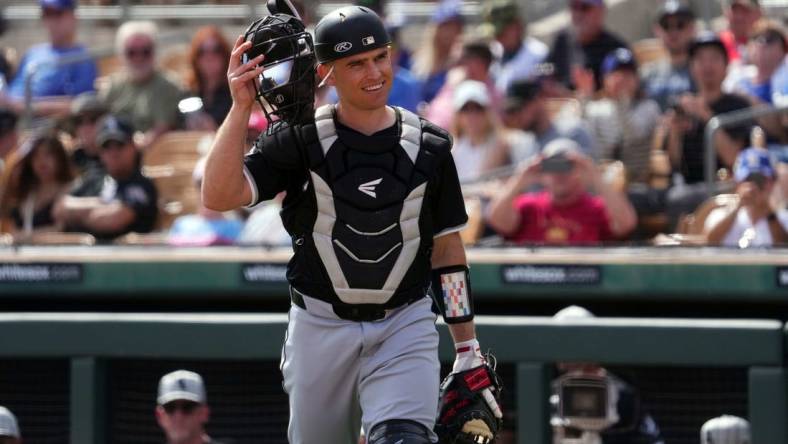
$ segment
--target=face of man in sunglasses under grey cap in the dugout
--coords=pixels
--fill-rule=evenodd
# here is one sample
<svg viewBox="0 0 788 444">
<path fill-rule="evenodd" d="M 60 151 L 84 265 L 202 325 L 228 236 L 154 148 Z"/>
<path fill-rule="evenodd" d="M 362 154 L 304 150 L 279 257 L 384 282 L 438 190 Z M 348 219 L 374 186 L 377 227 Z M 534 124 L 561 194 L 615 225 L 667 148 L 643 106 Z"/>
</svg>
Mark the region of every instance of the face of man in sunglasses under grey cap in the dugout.
<svg viewBox="0 0 788 444">
<path fill-rule="evenodd" d="M 169 444 L 195 442 L 208 421 L 208 407 L 191 401 L 173 401 L 156 407 L 159 422 Z"/>
</svg>

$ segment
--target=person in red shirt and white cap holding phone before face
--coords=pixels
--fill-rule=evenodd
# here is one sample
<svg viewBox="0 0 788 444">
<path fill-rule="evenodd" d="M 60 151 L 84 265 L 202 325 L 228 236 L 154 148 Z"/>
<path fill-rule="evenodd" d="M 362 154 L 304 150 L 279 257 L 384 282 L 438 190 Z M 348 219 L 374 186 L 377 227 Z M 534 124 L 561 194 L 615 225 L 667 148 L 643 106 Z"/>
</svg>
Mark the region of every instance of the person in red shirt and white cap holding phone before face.
<svg viewBox="0 0 788 444">
<path fill-rule="evenodd" d="M 537 184 L 544 190 L 522 194 Z M 626 195 L 605 184 L 580 146 L 563 138 L 550 142 L 512 176 L 490 204 L 487 218 L 508 240 L 552 245 L 621 239 L 637 222 Z"/>
</svg>

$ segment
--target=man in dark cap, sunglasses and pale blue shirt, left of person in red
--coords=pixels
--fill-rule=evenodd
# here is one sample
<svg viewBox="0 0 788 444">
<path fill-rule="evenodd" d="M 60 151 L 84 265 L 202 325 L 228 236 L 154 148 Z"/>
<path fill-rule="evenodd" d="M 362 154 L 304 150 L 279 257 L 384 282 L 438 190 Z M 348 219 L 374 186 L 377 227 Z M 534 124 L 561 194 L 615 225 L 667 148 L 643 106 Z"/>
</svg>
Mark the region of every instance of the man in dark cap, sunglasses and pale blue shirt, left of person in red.
<svg viewBox="0 0 788 444">
<path fill-rule="evenodd" d="M 667 57 L 642 68 L 643 89 L 664 112 L 672 100 L 695 91 L 689 72 L 689 47 L 695 39 L 695 14 L 678 0 L 668 0 L 654 24 Z"/>
</svg>

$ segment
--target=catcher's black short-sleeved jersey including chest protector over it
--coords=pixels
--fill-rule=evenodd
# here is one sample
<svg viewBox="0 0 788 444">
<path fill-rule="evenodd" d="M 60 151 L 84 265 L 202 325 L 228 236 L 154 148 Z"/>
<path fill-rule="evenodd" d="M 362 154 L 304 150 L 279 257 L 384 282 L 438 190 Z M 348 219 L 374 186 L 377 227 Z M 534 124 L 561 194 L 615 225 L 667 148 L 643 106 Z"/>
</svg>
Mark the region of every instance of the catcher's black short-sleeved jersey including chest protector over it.
<svg viewBox="0 0 788 444">
<path fill-rule="evenodd" d="M 395 125 L 369 136 L 338 124 L 332 107 L 316 116 L 262 136 L 244 162 L 252 204 L 287 191 L 288 280 L 334 304 L 423 297 L 433 238 L 467 221 L 448 134 L 399 108 Z"/>
</svg>

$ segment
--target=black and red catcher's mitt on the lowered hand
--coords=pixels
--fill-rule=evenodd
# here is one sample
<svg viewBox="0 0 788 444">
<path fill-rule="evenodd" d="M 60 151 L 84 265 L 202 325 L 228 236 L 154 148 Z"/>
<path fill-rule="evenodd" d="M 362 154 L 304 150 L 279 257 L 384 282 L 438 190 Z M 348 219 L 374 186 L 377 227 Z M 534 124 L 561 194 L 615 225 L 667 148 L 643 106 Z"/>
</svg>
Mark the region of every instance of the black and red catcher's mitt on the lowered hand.
<svg viewBox="0 0 788 444">
<path fill-rule="evenodd" d="M 495 441 L 503 421 L 496 417 L 490 403 L 500 408 L 501 388 L 495 373 L 495 358 L 489 355 L 484 365 L 447 376 L 441 383 L 435 423 L 438 442 L 488 444 Z M 485 391 L 488 394 L 485 395 Z"/>
</svg>

